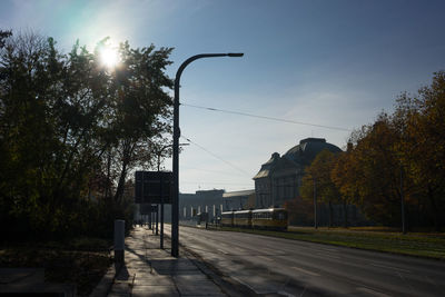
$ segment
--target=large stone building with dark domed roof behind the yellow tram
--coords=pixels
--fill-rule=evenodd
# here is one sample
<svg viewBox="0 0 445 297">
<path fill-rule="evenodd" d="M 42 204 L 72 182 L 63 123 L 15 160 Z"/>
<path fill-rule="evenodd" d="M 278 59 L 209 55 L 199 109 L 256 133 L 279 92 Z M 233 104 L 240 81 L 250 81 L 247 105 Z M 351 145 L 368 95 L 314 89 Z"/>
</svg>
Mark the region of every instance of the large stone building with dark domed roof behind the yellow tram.
<svg viewBox="0 0 445 297">
<path fill-rule="evenodd" d="M 296 198 L 299 195 L 305 167 L 325 149 L 332 152 L 342 151 L 324 138 L 306 138 L 283 156 L 274 152 L 254 177 L 256 207 L 281 207 L 285 201 Z"/>
</svg>

